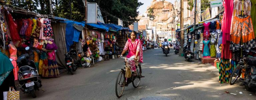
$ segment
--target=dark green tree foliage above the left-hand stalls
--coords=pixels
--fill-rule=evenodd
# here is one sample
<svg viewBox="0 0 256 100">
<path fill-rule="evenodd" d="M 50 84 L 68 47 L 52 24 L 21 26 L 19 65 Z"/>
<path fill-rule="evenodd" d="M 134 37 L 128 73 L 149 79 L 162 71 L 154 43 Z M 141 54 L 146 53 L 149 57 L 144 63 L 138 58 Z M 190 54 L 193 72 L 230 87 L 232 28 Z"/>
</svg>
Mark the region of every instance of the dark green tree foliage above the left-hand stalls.
<svg viewBox="0 0 256 100">
<path fill-rule="evenodd" d="M 49 15 L 49 0 L 7 0 L 11 5 L 23 8 L 40 14 Z M 70 0 L 52 0 L 53 15 L 70 19 Z M 84 21 L 85 8 L 83 0 L 71 0 L 72 19 L 76 21 Z M 143 5 L 138 0 L 87 0 L 87 2 L 95 2 L 99 5 L 103 19 L 106 23 L 117 24 L 117 18 L 124 22 L 124 26 L 138 21 L 136 17 L 139 15 L 137 9 Z"/>
</svg>

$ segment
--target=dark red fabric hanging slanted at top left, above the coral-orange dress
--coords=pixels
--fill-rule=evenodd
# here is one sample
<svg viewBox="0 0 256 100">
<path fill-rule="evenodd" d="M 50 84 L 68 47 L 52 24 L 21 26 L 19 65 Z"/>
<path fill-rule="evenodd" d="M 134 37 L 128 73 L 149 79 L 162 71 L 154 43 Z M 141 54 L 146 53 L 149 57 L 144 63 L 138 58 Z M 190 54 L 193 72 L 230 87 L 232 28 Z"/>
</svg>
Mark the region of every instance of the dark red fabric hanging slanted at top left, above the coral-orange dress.
<svg viewBox="0 0 256 100">
<path fill-rule="evenodd" d="M 9 25 L 9 30 L 10 30 L 10 33 L 11 33 L 12 41 L 16 42 L 16 41 L 20 40 L 21 38 L 19 36 L 19 33 L 18 33 L 17 28 L 15 26 L 15 23 L 13 22 L 12 15 L 9 13 L 7 15 L 7 17 L 8 17 L 8 25 Z"/>
</svg>

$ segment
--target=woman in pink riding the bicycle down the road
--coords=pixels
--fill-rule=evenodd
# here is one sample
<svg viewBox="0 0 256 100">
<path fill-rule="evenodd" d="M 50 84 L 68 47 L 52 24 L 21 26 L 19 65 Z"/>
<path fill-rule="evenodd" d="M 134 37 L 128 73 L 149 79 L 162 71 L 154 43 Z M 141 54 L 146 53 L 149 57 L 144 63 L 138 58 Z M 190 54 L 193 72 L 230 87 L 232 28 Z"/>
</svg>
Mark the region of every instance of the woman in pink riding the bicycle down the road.
<svg viewBox="0 0 256 100">
<path fill-rule="evenodd" d="M 127 40 L 124 50 L 121 54 L 123 54 L 128 50 L 128 55 L 126 58 L 134 58 L 134 60 L 128 60 L 128 64 L 131 67 L 132 72 L 135 72 L 134 74 L 137 75 L 136 73 L 136 66 L 138 66 L 139 62 L 143 63 L 143 54 L 142 54 L 142 44 L 139 39 L 136 39 L 137 34 L 135 31 L 131 33 L 131 38 Z M 136 64 L 136 66 L 135 66 Z"/>
</svg>

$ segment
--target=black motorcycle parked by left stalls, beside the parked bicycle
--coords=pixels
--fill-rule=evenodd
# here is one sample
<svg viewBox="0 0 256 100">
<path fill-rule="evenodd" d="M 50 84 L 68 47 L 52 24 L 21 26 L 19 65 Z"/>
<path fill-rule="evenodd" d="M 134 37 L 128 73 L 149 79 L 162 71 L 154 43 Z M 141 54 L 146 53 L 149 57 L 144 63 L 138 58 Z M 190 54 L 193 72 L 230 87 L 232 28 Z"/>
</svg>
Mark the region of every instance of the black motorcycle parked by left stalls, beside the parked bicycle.
<svg viewBox="0 0 256 100">
<path fill-rule="evenodd" d="M 70 49 L 69 52 L 65 54 L 66 68 L 68 69 L 68 73 L 70 72 L 72 75 L 74 74 L 73 72 L 77 70 L 79 63 L 75 57 L 77 57 L 77 54 L 74 49 Z"/>
</svg>

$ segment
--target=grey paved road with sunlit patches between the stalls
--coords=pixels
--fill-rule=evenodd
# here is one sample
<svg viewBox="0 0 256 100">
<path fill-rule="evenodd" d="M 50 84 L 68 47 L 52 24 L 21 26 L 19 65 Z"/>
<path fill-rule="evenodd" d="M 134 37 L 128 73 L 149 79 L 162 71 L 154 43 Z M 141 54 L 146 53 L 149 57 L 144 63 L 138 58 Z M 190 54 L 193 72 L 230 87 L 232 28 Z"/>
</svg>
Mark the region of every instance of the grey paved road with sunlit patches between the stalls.
<svg viewBox="0 0 256 100">
<path fill-rule="evenodd" d="M 139 100 L 149 96 L 172 100 L 255 100 L 254 93 L 243 92 L 243 86 L 219 84 L 218 70 L 210 64 L 187 62 L 173 54 L 165 57 L 161 49 L 144 52 L 142 78 L 138 88 L 125 87 L 119 100 Z M 123 59 L 102 61 L 95 66 L 77 70 L 74 75 L 62 73 L 58 78 L 42 79 L 36 91 L 38 100 L 116 100 L 115 80 Z M 225 94 L 225 91 L 237 95 Z M 252 94 L 252 95 L 250 95 Z M 33 99 L 21 93 L 21 100 Z"/>
</svg>

